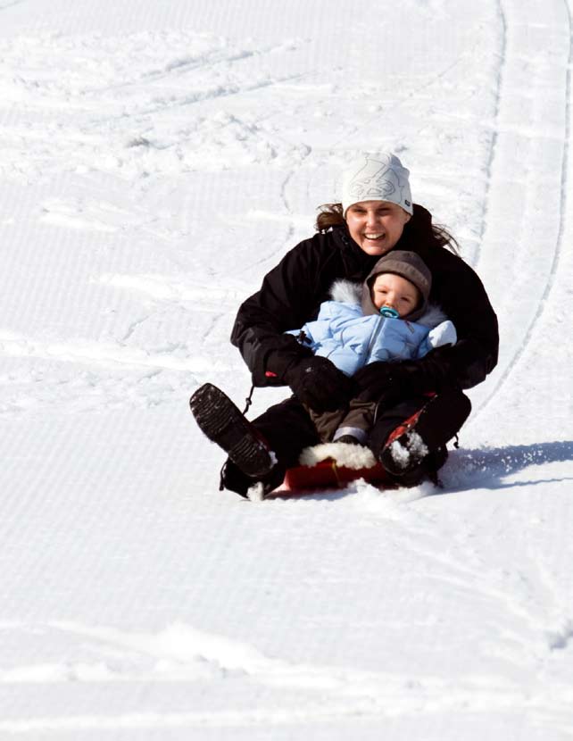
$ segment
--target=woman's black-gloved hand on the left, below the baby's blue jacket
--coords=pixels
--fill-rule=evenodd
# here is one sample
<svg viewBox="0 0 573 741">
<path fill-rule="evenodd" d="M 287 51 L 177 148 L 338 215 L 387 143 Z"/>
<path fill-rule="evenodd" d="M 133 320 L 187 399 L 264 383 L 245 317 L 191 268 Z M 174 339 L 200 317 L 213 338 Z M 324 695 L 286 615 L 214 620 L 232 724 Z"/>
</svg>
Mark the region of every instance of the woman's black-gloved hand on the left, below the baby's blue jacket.
<svg viewBox="0 0 573 741">
<path fill-rule="evenodd" d="M 306 406 L 315 412 L 333 412 L 345 406 L 355 390 L 352 379 L 327 358 L 313 356 L 291 365 L 286 383 Z"/>
</svg>

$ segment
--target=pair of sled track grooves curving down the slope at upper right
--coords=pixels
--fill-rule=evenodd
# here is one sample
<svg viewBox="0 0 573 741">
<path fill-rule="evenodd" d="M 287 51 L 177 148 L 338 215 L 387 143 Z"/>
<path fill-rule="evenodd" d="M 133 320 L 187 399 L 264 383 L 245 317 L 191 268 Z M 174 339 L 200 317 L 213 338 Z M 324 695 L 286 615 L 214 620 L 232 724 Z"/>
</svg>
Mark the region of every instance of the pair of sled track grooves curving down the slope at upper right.
<svg viewBox="0 0 573 741">
<path fill-rule="evenodd" d="M 510 4 L 514 4 L 515 0 L 511 0 Z M 486 406 L 490 404 L 490 402 L 494 399 L 495 396 L 498 395 L 498 393 L 501 391 L 502 387 L 504 386 L 507 379 L 510 378 L 511 373 L 516 368 L 516 366 L 519 364 L 520 359 L 522 356 L 526 353 L 528 346 L 532 342 L 532 338 L 534 337 L 534 331 L 536 328 L 536 324 L 540 320 L 542 314 L 545 311 L 545 308 L 548 304 L 548 299 L 552 291 L 552 287 L 555 281 L 555 277 L 557 275 L 557 271 L 559 269 L 559 263 L 560 258 L 562 254 L 563 249 L 563 242 L 564 242 L 564 234 L 565 234 L 565 227 L 566 227 L 566 217 L 567 217 L 567 187 L 569 184 L 569 156 L 570 156 L 570 129 L 571 129 L 571 64 L 573 63 L 573 44 L 571 42 L 571 31 L 572 31 L 572 22 L 571 22 L 571 10 L 569 7 L 569 3 L 567 0 L 563 0 L 563 7 L 565 9 L 565 14 L 567 18 L 567 34 L 566 36 L 569 39 L 569 48 L 567 51 L 567 62 L 566 62 L 566 74 L 565 74 L 565 84 L 564 84 L 564 123 L 563 123 L 563 133 L 562 133 L 562 154 L 561 154 L 561 162 L 559 167 L 559 218 L 558 218 L 558 225 L 556 229 L 556 236 L 553 241 L 553 251 L 550 260 L 547 258 L 545 259 L 545 262 L 550 262 L 549 271 L 546 273 L 546 277 L 544 279 L 543 284 L 543 290 L 538 294 L 538 298 L 536 300 L 536 308 L 535 312 L 529 317 L 527 324 L 525 326 L 525 329 L 523 331 L 523 334 L 520 336 L 521 340 L 520 342 L 516 342 L 516 347 L 514 352 L 511 354 L 511 356 L 506 360 L 506 362 L 502 366 L 502 372 L 501 375 L 496 379 L 496 383 L 494 388 L 491 390 L 489 395 L 486 396 L 486 398 L 477 405 L 477 408 L 475 410 L 475 416 L 480 412 L 483 412 L 486 409 Z M 520 8 L 517 4 L 515 4 L 515 8 L 513 9 L 517 15 Z M 507 43 L 507 32 L 508 29 L 511 28 L 511 22 L 508 24 L 507 19 L 509 16 L 511 16 L 511 13 L 507 13 L 503 9 L 502 2 L 499 2 L 499 13 L 500 18 L 502 19 L 503 24 L 503 42 L 502 42 L 502 65 L 500 67 L 500 73 L 498 78 L 498 95 L 496 99 L 496 112 L 495 112 L 495 129 L 494 129 L 494 137 L 492 140 L 492 147 L 491 147 L 491 155 L 489 162 L 487 164 L 487 175 L 488 175 L 488 182 L 491 182 L 495 179 L 501 179 L 501 173 L 499 171 L 499 165 L 498 165 L 498 156 L 497 156 L 497 150 L 500 144 L 500 132 L 503 133 L 503 129 L 506 129 L 508 127 L 514 126 L 511 121 L 504 121 L 503 120 L 503 87 L 504 84 L 507 84 L 504 82 L 506 74 L 510 74 L 510 65 L 511 62 L 508 60 L 508 43 Z M 537 125 L 539 127 L 539 131 L 537 132 L 537 136 L 541 141 L 545 140 L 544 134 L 541 133 L 542 127 L 544 125 L 544 121 L 538 121 Z M 552 138 L 547 137 L 548 143 L 551 145 Z M 486 204 L 484 208 L 484 220 L 483 220 L 483 229 L 480 236 L 480 247 L 479 252 L 477 253 L 477 260 L 479 259 L 479 256 L 481 254 L 481 249 L 483 246 L 484 241 L 487 241 L 487 220 L 488 215 L 491 214 L 490 205 L 487 204 L 487 200 L 493 197 L 493 188 L 491 186 L 488 186 L 487 194 L 486 194 Z M 545 205 L 545 204 L 542 204 Z M 503 204 L 502 204 L 503 208 Z M 527 212 L 527 202 L 525 204 L 525 210 Z M 517 214 L 515 214 L 517 215 Z M 523 229 L 527 233 L 527 229 Z M 497 241 L 497 240 L 494 240 Z M 496 245 L 492 245 L 490 247 L 492 250 L 496 249 Z M 516 312 L 511 312 L 511 316 L 515 316 Z"/>
</svg>

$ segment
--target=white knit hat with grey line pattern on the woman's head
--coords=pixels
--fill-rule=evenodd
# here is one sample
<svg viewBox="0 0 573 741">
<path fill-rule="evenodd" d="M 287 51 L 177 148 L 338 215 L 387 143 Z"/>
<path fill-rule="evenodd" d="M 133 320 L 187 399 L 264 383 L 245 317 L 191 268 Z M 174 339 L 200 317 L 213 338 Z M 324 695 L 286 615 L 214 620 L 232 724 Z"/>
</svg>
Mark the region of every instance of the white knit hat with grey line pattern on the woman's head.
<svg viewBox="0 0 573 741">
<path fill-rule="evenodd" d="M 409 175 L 410 171 L 391 152 L 361 154 L 343 175 L 344 216 L 349 206 L 360 201 L 389 201 L 413 213 Z"/>
</svg>

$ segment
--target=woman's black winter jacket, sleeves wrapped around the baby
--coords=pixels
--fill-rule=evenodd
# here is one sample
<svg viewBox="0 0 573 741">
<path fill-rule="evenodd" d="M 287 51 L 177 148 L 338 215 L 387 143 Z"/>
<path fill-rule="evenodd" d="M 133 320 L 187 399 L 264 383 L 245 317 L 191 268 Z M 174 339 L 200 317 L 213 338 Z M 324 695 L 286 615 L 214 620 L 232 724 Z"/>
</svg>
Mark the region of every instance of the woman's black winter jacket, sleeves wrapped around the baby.
<svg viewBox="0 0 573 741">
<path fill-rule="evenodd" d="M 475 271 L 461 257 L 436 246 L 428 238 L 430 229 L 431 215 L 415 205 L 394 249 L 412 250 L 428 265 L 429 300 L 442 307 L 458 333 L 455 346 L 437 348 L 433 355 L 444 375 L 469 388 L 483 381 L 497 363 L 497 319 Z M 256 386 L 283 384 L 288 366 L 311 354 L 295 337 L 283 334 L 286 329 L 315 319 L 335 280 L 361 283 L 378 260 L 379 255 L 361 250 L 345 227 L 316 234 L 286 253 L 265 276 L 261 289 L 240 306 L 231 333 Z"/>
</svg>

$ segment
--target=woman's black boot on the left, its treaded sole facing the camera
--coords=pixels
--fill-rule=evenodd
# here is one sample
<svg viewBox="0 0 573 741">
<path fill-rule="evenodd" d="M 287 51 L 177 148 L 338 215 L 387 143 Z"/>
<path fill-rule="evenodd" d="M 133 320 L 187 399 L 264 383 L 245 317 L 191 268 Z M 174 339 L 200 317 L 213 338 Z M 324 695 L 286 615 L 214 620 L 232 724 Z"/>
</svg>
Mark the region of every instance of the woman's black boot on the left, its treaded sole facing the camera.
<svg viewBox="0 0 573 741">
<path fill-rule="evenodd" d="M 189 399 L 191 413 L 203 434 L 219 445 L 247 476 L 259 477 L 273 467 L 269 450 L 253 425 L 220 388 L 205 383 Z"/>
</svg>

